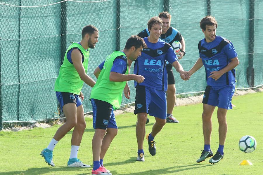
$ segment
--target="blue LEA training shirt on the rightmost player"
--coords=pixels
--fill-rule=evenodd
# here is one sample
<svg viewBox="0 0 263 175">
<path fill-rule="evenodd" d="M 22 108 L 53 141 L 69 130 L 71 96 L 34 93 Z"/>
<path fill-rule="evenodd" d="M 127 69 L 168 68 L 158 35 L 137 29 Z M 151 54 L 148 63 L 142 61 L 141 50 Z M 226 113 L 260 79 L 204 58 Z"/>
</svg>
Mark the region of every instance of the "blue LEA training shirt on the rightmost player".
<svg viewBox="0 0 263 175">
<path fill-rule="evenodd" d="M 208 78 L 213 71 L 219 71 L 226 67 L 232 59 L 237 57 L 233 44 L 222 36 L 215 37 L 214 41 L 207 43 L 205 38 L 198 44 L 199 56 L 205 66 L 206 81 L 209 86 L 224 86 L 236 81 L 235 69 L 223 74 L 217 81 Z"/>
</svg>

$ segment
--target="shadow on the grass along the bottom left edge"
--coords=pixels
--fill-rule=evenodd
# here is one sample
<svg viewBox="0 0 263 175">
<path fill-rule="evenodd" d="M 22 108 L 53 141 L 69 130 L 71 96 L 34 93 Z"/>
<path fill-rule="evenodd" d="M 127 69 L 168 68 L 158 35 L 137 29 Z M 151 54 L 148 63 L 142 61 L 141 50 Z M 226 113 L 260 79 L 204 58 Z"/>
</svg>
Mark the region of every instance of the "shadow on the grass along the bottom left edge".
<svg viewBox="0 0 263 175">
<path fill-rule="evenodd" d="M 75 167 L 44 167 L 44 168 L 30 168 L 27 169 L 25 171 L 9 171 L 9 172 L 1 172 L 0 175 L 21 175 L 21 174 L 25 174 L 25 175 L 37 175 L 37 174 L 47 174 L 50 172 L 53 172 L 53 174 L 56 174 L 56 171 L 61 171 L 64 174 L 68 174 L 68 172 L 72 171 L 74 174 L 76 175 L 86 175 L 86 174 L 91 174 L 91 170 L 92 168 L 85 168 L 86 169 L 86 173 L 82 173 L 78 171 L 83 171 L 83 169 L 80 168 L 75 168 Z"/>
</svg>

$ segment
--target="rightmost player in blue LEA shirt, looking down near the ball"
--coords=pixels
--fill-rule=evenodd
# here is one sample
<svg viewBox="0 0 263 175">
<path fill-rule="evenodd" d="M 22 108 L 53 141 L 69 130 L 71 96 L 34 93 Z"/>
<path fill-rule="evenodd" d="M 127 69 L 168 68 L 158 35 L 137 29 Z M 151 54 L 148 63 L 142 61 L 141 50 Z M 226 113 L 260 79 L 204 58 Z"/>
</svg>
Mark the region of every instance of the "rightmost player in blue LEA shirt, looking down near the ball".
<svg viewBox="0 0 263 175">
<path fill-rule="evenodd" d="M 202 162 L 212 157 L 210 137 L 212 132 L 212 114 L 215 106 L 219 123 L 219 147 L 216 154 L 209 160 L 214 164 L 224 157 L 224 143 L 226 140 L 227 123 L 226 112 L 232 109 L 231 99 L 235 91 L 235 67 L 239 64 L 233 44 L 222 36 L 216 35 L 217 21 L 212 16 L 204 17 L 200 27 L 205 38 L 198 44 L 200 58 L 189 73 L 192 75 L 203 65 L 205 67 L 207 87 L 203 97 L 203 134 L 204 150 L 196 162 Z"/>
</svg>

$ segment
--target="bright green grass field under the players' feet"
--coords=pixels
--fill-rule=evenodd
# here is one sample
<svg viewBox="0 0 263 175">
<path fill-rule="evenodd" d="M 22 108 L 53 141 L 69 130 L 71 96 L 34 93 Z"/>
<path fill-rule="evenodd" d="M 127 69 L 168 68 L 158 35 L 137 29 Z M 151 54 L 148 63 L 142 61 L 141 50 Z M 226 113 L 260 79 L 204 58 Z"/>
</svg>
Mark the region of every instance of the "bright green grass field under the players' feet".
<svg viewBox="0 0 263 175">
<path fill-rule="evenodd" d="M 118 135 L 113 140 L 105 158 L 104 166 L 112 174 L 262 174 L 263 165 L 263 92 L 234 97 L 236 105 L 227 114 L 228 133 L 225 157 L 218 164 L 210 164 L 208 159 L 196 163 L 203 149 L 201 114 L 202 104 L 179 106 L 174 116 L 179 124 L 167 123 L 155 137 L 157 153 L 150 156 L 145 140 L 145 162 L 136 162 L 137 142 L 135 134 L 136 115 L 117 115 Z M 216 108 L 217 110 L 217 108 Z M 146 125 L 146 133 L 151 131 L 154 118 Z M 216 112 L 213 115 L 211 149 L 216 152 L 219 144 Z M 92 167 L 91 140 L 94 134 L 92 120 L 86 119 L 87 127 L 79 149 L 78 158 Z M 21 132 L 0 132 L 0 175 L 10 174 L 91 174 L 92 168 L 66 167 L 70 156 L 71 131 L 57 144 L 53 151 L 56 167 L 48 166 L 39 154 L 52 139 L 58 125 L 42 129 L 35 128 Z M 238 141 L 244 135 L 254 136 L 257 149 L 246 154 L 239 150 Z M 238 165 L 242 160 L 250 160 L 252 166 Z"/>
</svg>

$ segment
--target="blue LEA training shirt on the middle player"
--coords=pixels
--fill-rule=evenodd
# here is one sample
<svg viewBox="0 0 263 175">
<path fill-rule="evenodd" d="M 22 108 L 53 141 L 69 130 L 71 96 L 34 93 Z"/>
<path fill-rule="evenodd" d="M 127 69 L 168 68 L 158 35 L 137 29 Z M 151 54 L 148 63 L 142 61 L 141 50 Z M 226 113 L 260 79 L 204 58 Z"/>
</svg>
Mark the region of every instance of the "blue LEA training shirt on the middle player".
<svg viewBox="0 0 263 175">
<path fill-rule="evenodd" d="M 141 56 L 134 63 L 134 74 L 144 76 L 143 83 L 134 81 L 134 86 L 142 85 L 157 90 L 167 90 L 167 67 L 169 63 L 178 61 L 173 48 L 166 42 L 158 39 L 157 43 L 150 43 L 148 38 L 143 38 L 147 48 L 143 48 Z"/>
</svg>

